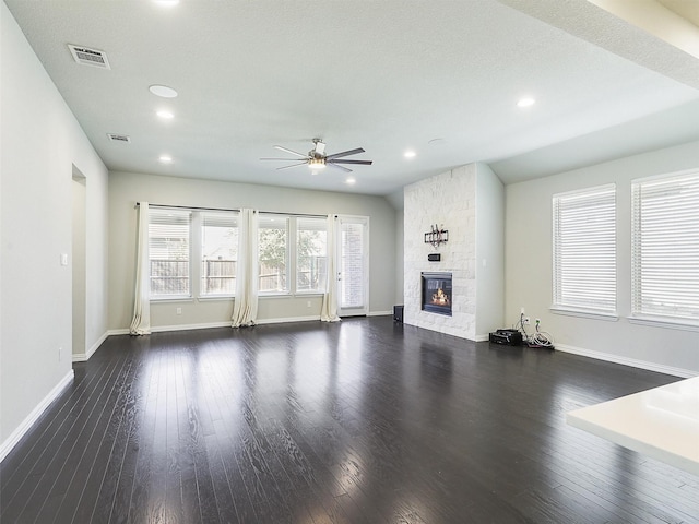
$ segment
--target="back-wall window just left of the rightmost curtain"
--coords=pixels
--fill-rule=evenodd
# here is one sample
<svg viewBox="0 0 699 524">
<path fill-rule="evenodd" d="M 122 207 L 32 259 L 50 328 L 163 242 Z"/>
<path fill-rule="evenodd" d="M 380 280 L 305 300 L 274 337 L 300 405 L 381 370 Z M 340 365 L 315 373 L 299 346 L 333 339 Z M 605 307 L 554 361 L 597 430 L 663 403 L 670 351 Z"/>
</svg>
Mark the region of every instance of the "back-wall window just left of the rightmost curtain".
<svg viewBox="0 0 699 524">
<path fill-rule="evenodd" d="M 323 293 L 328 278 L 328 221 L 296 218 L 296 290 Z"/>
</svg>

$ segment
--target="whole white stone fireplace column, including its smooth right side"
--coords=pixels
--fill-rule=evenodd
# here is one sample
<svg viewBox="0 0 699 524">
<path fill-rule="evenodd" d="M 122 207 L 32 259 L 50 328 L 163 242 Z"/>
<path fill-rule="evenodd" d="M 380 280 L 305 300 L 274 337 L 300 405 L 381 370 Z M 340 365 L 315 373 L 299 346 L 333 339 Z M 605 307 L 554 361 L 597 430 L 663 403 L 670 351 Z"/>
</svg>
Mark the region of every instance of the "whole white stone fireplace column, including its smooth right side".
<svg viewBox="0 0 699 524">
<path fill-rule="evenodd" d="M 487 165 L 469 164 L 406 186 L 403 201 L 403 322 L 487 341 L 503 325 L 502 182 Z M 443 224 L 449 241 L 438 248 L 425 243 L 430 224 Z M 435 253 L 439 258 L 430 258 Z M 426 300 L 437 288 L 426 294 L 420 274 L 438 272 L 451 275 L 451 287 L 441 288 L 450 309 Z"/>
</svg>

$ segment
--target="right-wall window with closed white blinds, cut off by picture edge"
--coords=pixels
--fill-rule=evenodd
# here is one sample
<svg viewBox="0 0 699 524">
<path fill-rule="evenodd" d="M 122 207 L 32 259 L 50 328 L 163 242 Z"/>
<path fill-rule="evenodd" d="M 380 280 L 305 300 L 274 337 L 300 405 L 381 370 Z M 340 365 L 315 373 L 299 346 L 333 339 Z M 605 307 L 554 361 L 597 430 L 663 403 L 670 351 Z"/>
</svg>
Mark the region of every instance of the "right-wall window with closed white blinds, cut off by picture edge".
<svg viewBox="0 0 699 524">
<path fill-rule="evenodd" d="M 631 308 L 699 324 L 699 170 L 631 186 Z"/>
</svg>

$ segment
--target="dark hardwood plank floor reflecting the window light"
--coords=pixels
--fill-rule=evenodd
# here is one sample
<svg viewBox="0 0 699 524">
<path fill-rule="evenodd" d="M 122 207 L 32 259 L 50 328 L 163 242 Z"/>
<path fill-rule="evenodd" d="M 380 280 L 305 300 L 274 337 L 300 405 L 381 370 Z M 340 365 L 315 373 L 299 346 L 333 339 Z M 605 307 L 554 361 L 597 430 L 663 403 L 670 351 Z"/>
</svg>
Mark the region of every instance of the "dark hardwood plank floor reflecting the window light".
<svg viewBox="0 0 699 524">
<path fill-rule="evenodd" d="M 108 338 L 1 465 L 10 523 L 698 523 L 565 422 L 678 380 L 388 317 Z"/>
</svg>

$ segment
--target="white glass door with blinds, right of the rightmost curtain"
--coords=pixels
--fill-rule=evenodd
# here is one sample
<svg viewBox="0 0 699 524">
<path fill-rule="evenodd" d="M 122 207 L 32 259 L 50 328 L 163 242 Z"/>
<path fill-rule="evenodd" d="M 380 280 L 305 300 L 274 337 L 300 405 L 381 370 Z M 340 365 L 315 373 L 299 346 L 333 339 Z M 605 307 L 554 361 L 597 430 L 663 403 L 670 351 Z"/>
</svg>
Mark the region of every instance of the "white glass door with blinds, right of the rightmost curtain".
<svg viewBox="0 0 699 524">
<path fill-rule="evenodd" d="M 337 217 L 337 314 L 369 312 L 369 218 Z"/>
</svg>

